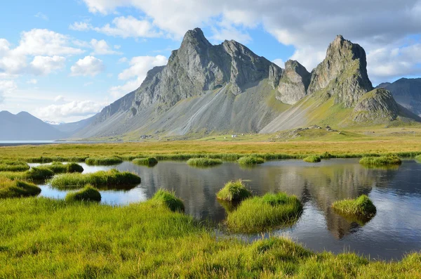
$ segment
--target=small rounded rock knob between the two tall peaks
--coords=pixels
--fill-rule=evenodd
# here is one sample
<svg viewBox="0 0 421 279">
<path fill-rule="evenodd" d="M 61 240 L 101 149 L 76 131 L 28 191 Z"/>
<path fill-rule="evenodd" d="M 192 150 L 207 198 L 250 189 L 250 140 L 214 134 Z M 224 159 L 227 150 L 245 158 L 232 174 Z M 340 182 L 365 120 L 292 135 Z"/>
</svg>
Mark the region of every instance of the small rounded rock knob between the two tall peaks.
<svg viewBox="0 0 421 279">
<path fill-rule="evenodd" d="M 307 95 L 311 74 L 298 61 L 288 60 L 285 63 L 283 76 L 279 81 L 276 99 L 293 105 Z"/>
</svg>

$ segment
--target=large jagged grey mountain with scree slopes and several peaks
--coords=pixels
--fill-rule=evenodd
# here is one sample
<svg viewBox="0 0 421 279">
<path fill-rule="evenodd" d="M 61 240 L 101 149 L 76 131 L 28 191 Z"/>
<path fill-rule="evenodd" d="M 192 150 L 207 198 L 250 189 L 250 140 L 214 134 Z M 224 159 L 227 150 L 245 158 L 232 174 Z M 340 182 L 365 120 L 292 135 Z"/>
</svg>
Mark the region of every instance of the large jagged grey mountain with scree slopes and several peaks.
<svg viewBox="0 0 421 279">
<path fill-rule="evenodd" d="M 213 45 L 189 30 L 168 64 L 104 108 L 74 138 L 269 133 L 309 124 L 421 121 L 387 90 L 373 89 L 366 52 L 342 36 L 312 72 L 278 67 L 236 41 Z"/>
</svg>

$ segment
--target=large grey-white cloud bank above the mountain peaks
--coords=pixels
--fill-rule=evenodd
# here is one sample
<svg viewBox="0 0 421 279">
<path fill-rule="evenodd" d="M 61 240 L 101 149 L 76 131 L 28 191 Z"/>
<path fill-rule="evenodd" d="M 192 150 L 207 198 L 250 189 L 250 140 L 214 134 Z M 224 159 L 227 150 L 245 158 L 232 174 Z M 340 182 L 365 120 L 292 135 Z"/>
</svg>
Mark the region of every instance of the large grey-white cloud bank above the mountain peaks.
<svg viewBox="0 0 421 279">
<path fill-rule="evenodd" d="M 407 0 L 405 5 L 395 0 L 83 1 L 91 13 L 113 13 L 116 8 L 125 6 L 138 8 L 154 26 L 173 37 L 182 37 L 186 30 L 194 27 L 216 26 L 213 30 L 215 39 L 236 37 L 240 41 L 247 39 L 243 37 L 247 35 L 244 28 L 261 26 L 281 44 L 294 46 L 292 58 L 309 71 L 323 60 L 328 44 L 337 34 L 366 48 L 371 63 L 375 63 L 370 70 L 373 78 L 392 77 L 396 72 L 417 74 L 420 68 L 420 60 L 417 63 L 399 60 L 406 58 L 404 55 L 389 59 L 389 56 L 393 58 L 394 48 L 403 46 L 396 44 L 412 34 L 420 34 L 420 0 Z M 417 42 L 408 44 L 405 46 L 416 48 Z M 387 49 L 382 49 L 385 46 Z M 380 70 L 385 64 L 390 69 L 396 67 L 396 72 Z"/>
</svg>

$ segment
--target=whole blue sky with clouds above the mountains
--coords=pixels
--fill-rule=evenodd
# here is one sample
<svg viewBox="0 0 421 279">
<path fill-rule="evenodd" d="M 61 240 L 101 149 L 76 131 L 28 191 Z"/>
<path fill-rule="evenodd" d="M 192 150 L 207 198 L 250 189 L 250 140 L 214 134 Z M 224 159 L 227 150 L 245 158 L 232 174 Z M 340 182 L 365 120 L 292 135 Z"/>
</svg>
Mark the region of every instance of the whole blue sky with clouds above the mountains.
<svg viewBox="0 0 421 279">
<path fill-rule="evenodd" d="M 419 77 L 421 1 L 405 2 L 5 1 L 0 110 L 58 122 L 91 116 L 140 86 L 194 27 L 213 44 L 235 39 L 281 67 L 293 58 L 309 71 L 342 34 L 366 48 L 373 84 Z"/>
</svg>

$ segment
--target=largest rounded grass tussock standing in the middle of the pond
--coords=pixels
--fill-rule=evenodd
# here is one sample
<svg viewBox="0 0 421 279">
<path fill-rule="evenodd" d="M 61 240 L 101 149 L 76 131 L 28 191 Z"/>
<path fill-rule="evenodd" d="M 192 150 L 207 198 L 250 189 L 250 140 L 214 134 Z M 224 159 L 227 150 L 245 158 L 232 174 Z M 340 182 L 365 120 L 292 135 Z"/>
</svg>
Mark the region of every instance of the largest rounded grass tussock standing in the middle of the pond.
<svg viewBox="0 0 421 279">
<path fill-rule="evenodd" d="M 302 212 L 300 200 L 286 193 L 268 193 L 250 197 L 227 216 L 229 231 L 258 233 L 289 225 L 298 220 Z"/>
</svg>

